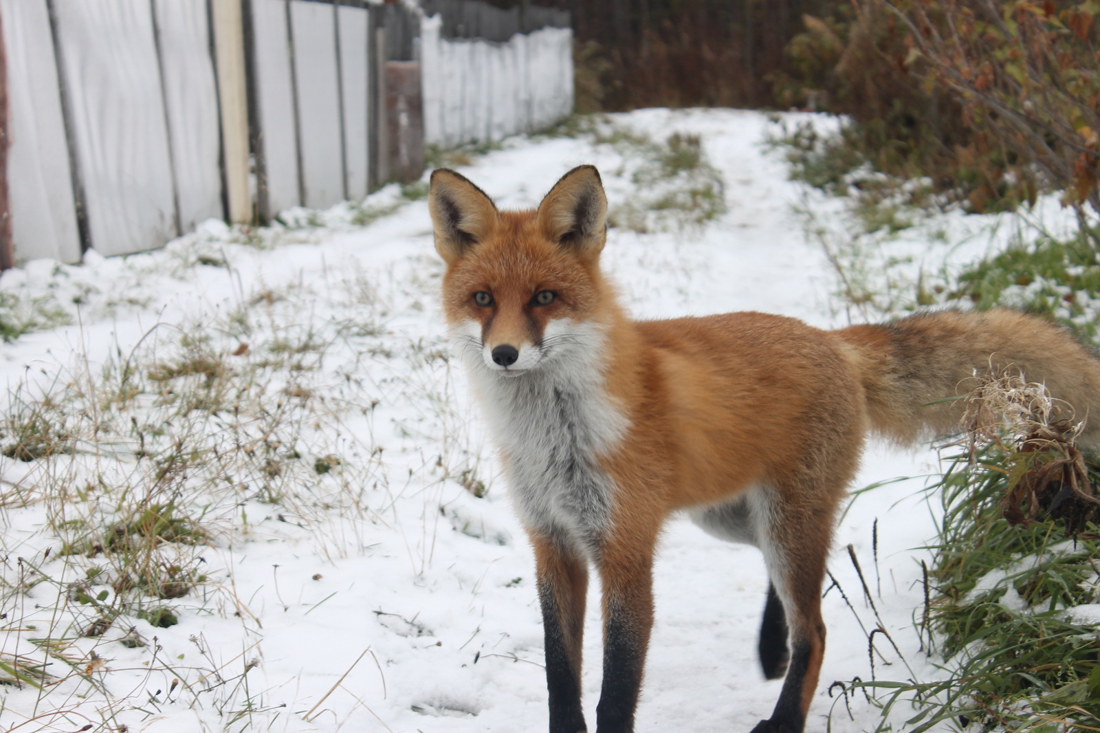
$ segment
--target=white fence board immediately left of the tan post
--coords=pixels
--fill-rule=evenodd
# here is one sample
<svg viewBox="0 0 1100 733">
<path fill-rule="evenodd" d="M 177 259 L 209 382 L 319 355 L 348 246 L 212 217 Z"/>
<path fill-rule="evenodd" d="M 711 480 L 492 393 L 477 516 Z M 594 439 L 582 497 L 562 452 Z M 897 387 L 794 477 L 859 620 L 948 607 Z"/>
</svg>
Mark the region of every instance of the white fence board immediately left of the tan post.
<svg viewBox="0 0 1100 733">
<path fill-rule="evenodd" d="M 226 217 L 210 25 L 206 0 L 155 3 L 179 223 L 186 232 L 204 219 Z"/>
</svg>

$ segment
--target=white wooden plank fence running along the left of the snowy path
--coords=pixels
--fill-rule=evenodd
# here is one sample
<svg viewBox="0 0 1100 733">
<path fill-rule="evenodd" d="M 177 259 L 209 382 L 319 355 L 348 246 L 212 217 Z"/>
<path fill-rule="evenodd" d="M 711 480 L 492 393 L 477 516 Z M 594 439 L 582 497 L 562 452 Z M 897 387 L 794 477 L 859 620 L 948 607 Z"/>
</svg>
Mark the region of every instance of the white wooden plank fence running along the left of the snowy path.
<svg viewBox="0 0 1100 733">
<path fill-rule="evenodd" d="M 532 8 L 509 25 L 503 12 L 469 0 L 422 11 L 366 0 L 0 0 L 11 211 L 0 266 L 12 247 L 20 261 L 78 262 L 89 248 L 158 248 L 207 218 L 265 221 L 361 199 L 418 177 L 425 142 L 495 139 L 566 116 L 568 15 Z M 475 32 L 492 40 L 468 37 Z"/>
</svg>

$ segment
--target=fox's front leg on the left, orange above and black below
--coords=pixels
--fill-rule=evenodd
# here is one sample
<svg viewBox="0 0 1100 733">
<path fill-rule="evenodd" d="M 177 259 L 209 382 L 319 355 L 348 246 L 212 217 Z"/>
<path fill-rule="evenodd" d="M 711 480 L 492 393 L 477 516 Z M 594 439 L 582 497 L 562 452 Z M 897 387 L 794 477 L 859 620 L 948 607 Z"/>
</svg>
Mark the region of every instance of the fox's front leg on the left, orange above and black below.
<svg viewBox="0 0 1100 733">
<path fill-rule="evenodd" d="M 546 643 L 550 733 L 585 733 L 581 655 L 587 561 L 551 537 L 531 535 Z"/>
</svg>

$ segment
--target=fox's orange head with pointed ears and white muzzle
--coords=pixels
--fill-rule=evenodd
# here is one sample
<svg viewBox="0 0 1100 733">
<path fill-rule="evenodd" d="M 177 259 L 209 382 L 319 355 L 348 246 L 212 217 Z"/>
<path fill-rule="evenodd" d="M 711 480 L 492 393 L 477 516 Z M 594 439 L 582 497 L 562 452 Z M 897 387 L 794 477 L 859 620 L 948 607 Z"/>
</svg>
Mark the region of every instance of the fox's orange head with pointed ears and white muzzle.
<svg viewBox="0 0 1100 733">
<path fill-rule="evenodd" d="M 518 376 L 598 328 L 607 198 L 594 166 L 573 168 L 526 211 L 501 211 L 465 177 L 439 168 L 428 206 L 447 263 L 443 311 L 475 363 Z"/>
</svg>

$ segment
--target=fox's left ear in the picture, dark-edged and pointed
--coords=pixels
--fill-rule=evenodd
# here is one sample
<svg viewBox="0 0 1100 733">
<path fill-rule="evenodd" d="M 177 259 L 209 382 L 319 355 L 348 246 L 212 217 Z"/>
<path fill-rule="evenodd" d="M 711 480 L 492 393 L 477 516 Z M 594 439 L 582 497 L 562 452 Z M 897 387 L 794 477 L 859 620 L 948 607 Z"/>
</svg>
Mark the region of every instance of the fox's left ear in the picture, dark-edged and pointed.
<svg viewBox="0 0 1100 733">
<path fill-rule="evenodd" d="M 498 217 L 496 205 L 485 192 L 449 168 L 432 172 L 428 210 L 436 232 L 436 251 L 448 264 L 483 240 Z"/>
</svg>

